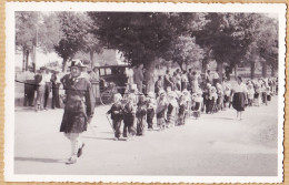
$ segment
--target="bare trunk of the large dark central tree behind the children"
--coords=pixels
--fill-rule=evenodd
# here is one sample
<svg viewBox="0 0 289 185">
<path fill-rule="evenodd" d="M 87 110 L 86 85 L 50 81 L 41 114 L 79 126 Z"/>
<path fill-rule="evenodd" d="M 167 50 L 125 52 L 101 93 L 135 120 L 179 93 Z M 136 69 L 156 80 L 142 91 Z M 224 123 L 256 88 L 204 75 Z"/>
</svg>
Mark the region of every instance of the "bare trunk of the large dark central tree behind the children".
<svg viewBox="0 0 289 185">
<path fill-rule="evenodd" d="M 148 61 L 144 65 L 144 78 L 146 78 L 146 93 L 155 92 L 155 69 L 156 60 Z"/>
</svg>

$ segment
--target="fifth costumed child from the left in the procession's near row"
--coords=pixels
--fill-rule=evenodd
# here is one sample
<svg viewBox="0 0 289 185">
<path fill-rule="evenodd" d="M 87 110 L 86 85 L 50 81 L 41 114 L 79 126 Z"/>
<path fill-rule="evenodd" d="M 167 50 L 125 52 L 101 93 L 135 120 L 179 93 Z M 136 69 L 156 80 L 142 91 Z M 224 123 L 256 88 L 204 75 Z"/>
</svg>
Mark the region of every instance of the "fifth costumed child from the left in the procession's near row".
<svg viewBox="0 0 289 185">
<path fill-rule="evenodd" d="M 166 99 L 166 92 L 163 90 L 160 90 L 159 92 L 159 97 L 157 100 L 157 110 L 156 110 L 156 114 L 157 114 L 157 124 L 159 126 L 159 131 L 163 131 L 166 127 L 166 113 L 167 113 L 167 109 L 168 109 L 168 102 Z"/>
</svg>

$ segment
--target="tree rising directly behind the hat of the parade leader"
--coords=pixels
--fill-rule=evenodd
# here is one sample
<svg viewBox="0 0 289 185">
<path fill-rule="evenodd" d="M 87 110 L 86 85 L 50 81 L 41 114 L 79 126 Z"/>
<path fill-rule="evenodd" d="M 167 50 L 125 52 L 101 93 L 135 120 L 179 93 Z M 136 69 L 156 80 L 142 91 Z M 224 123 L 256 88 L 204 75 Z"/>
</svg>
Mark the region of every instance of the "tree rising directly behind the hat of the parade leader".
<svg viewBox="0 0 289 185">
<path fill-rule="evenodd" d="M 81 17 L 83 17 L 82 13 L 76 12 L 60 12 L 58 14 L 62 37 L 53 48 L 63 59 L 63 72 L 67 70 L 67 62 L 86 47 L 84 35 L 88 33 L 88 28 Z"/>
</svg>

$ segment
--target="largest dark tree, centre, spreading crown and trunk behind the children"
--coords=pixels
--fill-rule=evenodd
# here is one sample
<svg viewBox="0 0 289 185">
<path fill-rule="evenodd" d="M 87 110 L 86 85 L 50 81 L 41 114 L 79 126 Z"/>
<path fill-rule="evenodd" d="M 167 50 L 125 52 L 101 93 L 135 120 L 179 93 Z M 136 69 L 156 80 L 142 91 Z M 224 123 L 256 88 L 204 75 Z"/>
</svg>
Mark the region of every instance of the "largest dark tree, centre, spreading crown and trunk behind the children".
<svg viewBox="0 0 289 185">
<path fill-rule="evenodd" d="M 88 12 L 101 44 L 119 50 L 132 65 L 144 65 L 148 91 L 153 91 L 156 60 L 166 59 L 175 40 L 186 33 L 193 13 Z M 168 31 L 169 29 L 169 31 Z"/>
</svg>

